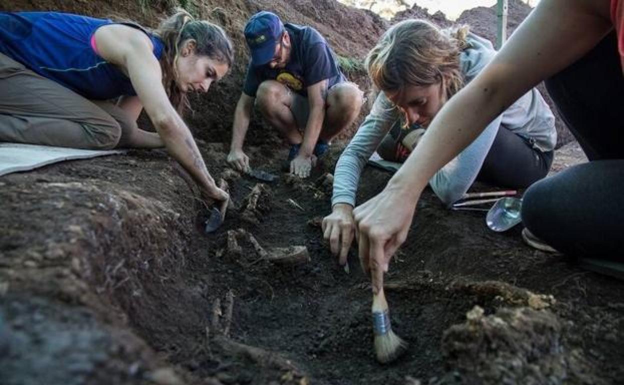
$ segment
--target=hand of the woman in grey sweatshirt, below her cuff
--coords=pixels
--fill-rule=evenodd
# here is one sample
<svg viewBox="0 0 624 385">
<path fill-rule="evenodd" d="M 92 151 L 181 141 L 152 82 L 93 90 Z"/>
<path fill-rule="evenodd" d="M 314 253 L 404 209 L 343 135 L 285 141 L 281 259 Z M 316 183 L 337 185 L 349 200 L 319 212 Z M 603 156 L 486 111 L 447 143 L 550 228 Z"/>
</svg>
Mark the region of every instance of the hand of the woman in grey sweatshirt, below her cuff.
<svg viewBox="0 0 624 385">
<path fill-rule="evenodd" d="M 329 241 L 329 250 L 338 255 L 338 263 L 347 263 L 347 255 L 353 241 L 354 222 L 353 206 L 348 203 L 337 203 L 331 214 L 323 218 L 323 238 Z"/>
</svg>

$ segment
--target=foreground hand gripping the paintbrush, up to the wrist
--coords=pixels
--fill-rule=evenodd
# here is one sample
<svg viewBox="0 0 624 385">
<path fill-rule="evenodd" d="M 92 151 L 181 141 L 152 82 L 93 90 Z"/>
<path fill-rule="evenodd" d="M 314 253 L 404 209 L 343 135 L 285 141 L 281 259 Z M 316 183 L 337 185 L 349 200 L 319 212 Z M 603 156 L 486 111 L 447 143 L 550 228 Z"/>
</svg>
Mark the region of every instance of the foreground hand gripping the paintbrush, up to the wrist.
<svg viewBox="0 0 624 385">
<path fill-rule="evenodd" d="M 404 190 L 388 185 L 353 210 L 359 261 L 364 271 L 372 273 L 373 293 L 381 290 L 390 258 L 407 238 L 417 201 Z"/>
</svg>

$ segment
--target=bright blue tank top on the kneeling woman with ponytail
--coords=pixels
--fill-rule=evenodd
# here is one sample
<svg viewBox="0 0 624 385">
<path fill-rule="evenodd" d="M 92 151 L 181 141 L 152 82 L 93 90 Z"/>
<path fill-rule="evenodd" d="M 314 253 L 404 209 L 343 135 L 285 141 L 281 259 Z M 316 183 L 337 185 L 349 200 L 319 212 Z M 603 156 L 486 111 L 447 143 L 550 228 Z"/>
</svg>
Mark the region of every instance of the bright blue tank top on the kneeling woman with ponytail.
<svg viewBox="0 0 624 385">
<path fill-rule="evenodd" d="M 87 99 L 136 95 L 129 77 L 91 46 L 95 31 L 107 24 L 114 22 L 59 12 L 0 12 L 0 52 Z M 160 59 L 162 41 L 145 34 Z"/>
</svg>

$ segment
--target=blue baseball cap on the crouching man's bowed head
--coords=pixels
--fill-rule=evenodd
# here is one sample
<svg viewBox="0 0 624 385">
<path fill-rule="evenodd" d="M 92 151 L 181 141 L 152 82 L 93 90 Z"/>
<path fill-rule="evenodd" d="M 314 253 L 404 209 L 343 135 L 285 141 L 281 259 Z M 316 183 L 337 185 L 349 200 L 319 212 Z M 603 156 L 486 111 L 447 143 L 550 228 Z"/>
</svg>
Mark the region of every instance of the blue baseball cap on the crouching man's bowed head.
<svg viewBox="0 0 624 385">
<path fill-rule="evenodd" d="M 245 40 L 251 51 L 252 66 L 263 66 L 273 59 L 283 31 L 284 24 L 273 12 L 260 11 L 251 16 L 245 26 Z"/>
</svg>

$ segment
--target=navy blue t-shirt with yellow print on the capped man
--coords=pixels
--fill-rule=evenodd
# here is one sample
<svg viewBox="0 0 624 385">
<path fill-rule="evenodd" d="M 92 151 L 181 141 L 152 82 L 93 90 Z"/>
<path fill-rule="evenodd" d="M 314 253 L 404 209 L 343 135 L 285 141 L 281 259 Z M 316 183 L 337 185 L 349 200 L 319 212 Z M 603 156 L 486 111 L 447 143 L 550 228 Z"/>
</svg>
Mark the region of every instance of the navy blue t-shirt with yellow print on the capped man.
<svg viewBox="0 0 624 385">
<path fill-rule="evenodd" d="M 310 85 L 321 80 L 328 79 L 328 88 L 344 81 L 334 52 L 316 29 L 296 24 L 284 24 L 284 27 L 290 35 L 290 61 L 282 69 L 271 69 L 268 64 L 259 67 L 250 65 L 243 85 L 246 95 L 255 97 L 260 83 L 271 79 L 303 96 L 308 95 Z"/>
</svg>

